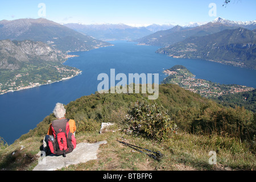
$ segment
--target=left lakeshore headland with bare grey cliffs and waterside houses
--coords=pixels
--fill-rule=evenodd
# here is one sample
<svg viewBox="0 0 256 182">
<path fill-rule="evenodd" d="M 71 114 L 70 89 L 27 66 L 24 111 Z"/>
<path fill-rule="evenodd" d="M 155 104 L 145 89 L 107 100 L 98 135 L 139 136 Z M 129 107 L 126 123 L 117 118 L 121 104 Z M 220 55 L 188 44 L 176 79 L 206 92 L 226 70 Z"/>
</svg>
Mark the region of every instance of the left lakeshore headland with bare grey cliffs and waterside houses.
<svg viewBox="0 0 256 182">
<path fill-rule="evenodd" d="M 42 42 L 0 40 L 0 94 L 34 88 L 77 76 L 81 71 L 63 65 L 69 57 Z"/>
</svg>

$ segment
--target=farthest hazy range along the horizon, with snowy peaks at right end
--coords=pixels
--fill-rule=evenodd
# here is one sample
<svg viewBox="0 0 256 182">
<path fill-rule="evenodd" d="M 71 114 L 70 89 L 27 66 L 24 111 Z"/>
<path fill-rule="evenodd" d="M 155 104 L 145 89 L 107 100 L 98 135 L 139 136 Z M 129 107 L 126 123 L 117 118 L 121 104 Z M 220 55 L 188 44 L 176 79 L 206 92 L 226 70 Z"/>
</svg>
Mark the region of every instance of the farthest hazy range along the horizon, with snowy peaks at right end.
<svg viewBox="0 0 256 182">
<path fill-rule="evenodd" d="M 208 22 L 209 23 L 209 22 Z M 231 20 L 226 20 L 224 18 L 216 18 L 211 23 L 221 23 L 226 26 L 230 27 L 243 27 L 247 28 L 249 30 L 254 30 L 256 28 L 256 20 L 250 21 L 250 22 L 235 22 Z M 179 26 L 184 28 L 184 30 L 188 28 L 195 28 L 199 26 L 203 26 L 207 23 L 202 22 L 191 22 L 185 26 Z M 174 28 L 175 25 L 173 24 L 151 24 L 150 26 L 144 26 L 144 27 L 132 27 L 128 26 L 123 23 L 119 24 L 110 24 L 110 23 L 104 23 L 104 24 L 81 24 L 81 23 L 68 23 L 63 24 L 64 26 L 71 28 L 73 30 L 76 30 L 78 32 L 81 32 L 88 36 L 93 36 L 93 38 L 100 39 L 100 40 L 134 40 L 134 41 L 144 41 L 144 39 L 147 39 L 147 36 L 150 36 L 151 38 L 155 39 L 154 34 L 158 31 L 165 31 L 167 32 Z M 158 32 L 159 35 L 160 32 Z M 165 34 L 165 33 L 163 33 Z M 163 36 L 163 35 L 162 35 Z M 184 36 L 184 35 L 183 35 Z M 187 38 L 188 36 L 186 36 Z M 156 37 L 157 39 L 157 37 Z M 141 42 L 142 43 L 142 42 Z M 150 42 L 157 46 L 162 46 L 162 44 Z M 147 42 L 143 42 L 142 44 L 148 44 Z M 163 45 L 164 46 L 164 45 Z"/>
</svg>

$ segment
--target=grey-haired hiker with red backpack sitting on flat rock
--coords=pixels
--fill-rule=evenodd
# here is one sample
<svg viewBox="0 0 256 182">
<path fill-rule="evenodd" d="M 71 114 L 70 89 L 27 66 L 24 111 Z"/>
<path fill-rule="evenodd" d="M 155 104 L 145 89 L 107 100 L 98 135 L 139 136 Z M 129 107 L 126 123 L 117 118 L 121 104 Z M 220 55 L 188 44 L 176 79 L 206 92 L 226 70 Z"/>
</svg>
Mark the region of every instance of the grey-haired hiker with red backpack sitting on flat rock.
<svg viewBox="0 0 256 182">
<path fill-rule="evenodd" d="M 66 110 L 63 104 L 57 103 L 53 113 L 56 120 L 52 121 L 48 133 L 43 140 L 43 150 L 46 155 L 63 155 L 76 148 L 76 123 L 73 119 L 66 119 Z"/>
</svg>

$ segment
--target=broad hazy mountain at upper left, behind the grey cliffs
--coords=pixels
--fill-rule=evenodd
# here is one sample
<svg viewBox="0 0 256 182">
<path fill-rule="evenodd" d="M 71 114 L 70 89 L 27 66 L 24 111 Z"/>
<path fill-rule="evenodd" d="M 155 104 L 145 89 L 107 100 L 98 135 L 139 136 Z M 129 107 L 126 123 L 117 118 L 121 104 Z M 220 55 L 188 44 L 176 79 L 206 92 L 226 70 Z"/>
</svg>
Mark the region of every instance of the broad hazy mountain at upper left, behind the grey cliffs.
<svg viewBox="0 0 256 182">
<path fill-rule="evenodd" d="M 65 52 L 89 51 L 110 46 L 109 43 L 96 40 L 44 18 L 1 20 L 0 40 L 4 39 L 40 41 Z"/>
</svg>

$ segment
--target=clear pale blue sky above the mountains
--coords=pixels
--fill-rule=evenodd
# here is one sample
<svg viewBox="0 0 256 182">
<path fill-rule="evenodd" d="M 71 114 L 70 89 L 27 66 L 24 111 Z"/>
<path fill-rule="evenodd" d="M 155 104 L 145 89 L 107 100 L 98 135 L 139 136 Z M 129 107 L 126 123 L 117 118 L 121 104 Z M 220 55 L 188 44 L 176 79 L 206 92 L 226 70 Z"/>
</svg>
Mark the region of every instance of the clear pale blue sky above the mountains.
<svg viewBox="0 0 256 182">
<path fill-rule="evenodd" d="M 256 20 L 255 0 L 0 0 L 0 20 L 46 18 L 57 23 L 130 26 L 210 22 L 217 17 Z"/>
</svg>

